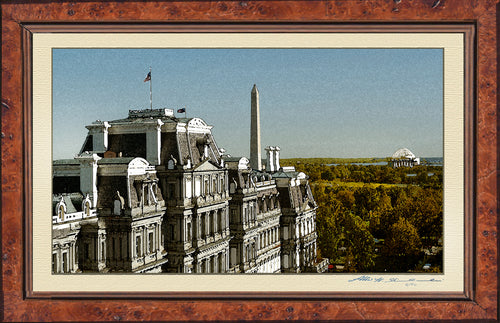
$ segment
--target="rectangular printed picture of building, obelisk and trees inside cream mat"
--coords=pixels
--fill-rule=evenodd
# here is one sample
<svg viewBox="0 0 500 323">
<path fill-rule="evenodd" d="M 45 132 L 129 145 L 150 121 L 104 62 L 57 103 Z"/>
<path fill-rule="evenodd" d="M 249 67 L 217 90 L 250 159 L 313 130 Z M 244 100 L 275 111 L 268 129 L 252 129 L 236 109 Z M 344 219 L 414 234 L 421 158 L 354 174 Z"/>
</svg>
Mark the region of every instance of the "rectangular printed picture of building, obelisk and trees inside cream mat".
<svg viewBox="0 0 500 323">
<path fill-rule="evenodd" d="M 443 49 L 52 49 L 52 273 L 442 273 Z"/>
</svg>

